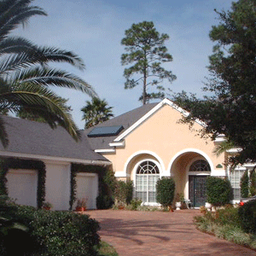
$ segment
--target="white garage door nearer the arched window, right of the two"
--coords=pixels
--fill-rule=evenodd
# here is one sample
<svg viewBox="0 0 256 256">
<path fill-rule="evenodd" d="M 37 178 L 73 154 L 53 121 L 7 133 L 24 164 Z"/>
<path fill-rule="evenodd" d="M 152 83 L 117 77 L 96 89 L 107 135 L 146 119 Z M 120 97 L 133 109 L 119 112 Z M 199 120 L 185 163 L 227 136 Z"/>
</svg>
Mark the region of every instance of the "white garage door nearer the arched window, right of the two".
<svg viewBox="0 0 256 256">
<path fill-rule="evenodd" d="M 77 199 L 88 199 L 87 209 L 96 209 L 98 193 L 98 176 L 96 173 L 78 173 Z M 76 206 L 76 202 L 74 207 Z"/>
</svg>

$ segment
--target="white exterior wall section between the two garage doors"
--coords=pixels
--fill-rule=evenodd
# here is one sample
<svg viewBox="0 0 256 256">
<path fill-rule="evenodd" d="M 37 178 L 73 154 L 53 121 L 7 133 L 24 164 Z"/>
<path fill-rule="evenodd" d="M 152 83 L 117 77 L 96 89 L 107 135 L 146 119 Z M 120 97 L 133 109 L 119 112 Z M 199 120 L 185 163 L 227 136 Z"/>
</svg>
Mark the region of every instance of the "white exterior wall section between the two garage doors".
<svg viewBox="0 0 256 256">
<path fill-rule="evenodd" d="M 53 205 L 53 210 L 68 210 L 70 200 L 70 163 L 45 161 L 45 201 Z"/>
</svg>

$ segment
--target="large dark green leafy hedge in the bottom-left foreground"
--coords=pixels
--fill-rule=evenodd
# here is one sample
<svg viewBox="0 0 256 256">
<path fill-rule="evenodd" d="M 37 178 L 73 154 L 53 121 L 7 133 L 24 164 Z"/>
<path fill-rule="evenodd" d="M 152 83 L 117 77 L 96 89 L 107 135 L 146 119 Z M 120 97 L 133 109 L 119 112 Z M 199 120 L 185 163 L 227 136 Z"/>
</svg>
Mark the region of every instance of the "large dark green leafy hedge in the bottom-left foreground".
<svg viewBox="0 0 256 256">
<path fill-rule="evenodd" d="M 32 240 L 32 255 L 97 255 L 99 224 L 87 215 L 74 212 L 52 212 L 33 207 L 15 207 L 8 214 L 13 221 L 25 224 Z"/>
</svg>

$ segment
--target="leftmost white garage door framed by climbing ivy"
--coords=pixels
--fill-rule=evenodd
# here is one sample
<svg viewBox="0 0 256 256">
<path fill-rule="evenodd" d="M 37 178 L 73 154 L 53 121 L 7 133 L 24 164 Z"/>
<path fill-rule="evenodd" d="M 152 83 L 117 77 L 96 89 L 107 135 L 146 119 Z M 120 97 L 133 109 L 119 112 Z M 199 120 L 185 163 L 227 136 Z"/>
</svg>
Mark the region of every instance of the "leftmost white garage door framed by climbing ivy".
<svg viewBox="0 0 256 256">
<path fill-rule="evenodd" d="M 9 170 L 6 178 L 10 198 L 20 205 L 37 207 L 37 171 Z"/>
</svg>

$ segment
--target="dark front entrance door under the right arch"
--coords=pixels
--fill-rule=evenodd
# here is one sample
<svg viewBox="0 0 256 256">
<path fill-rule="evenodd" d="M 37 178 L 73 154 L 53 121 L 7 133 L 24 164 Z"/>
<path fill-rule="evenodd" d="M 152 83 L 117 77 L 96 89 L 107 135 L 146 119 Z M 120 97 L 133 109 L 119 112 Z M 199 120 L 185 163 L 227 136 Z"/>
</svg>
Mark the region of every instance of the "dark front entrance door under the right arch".
<svg viewBox="0 0 256 256">
<path fill-rule="evenodd" d="M 207 201 L 206 195 L 207 176 L 189 176 L 189 200 L 193 207 L 204 206 Z"/>
</svg>

